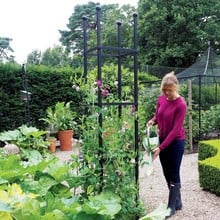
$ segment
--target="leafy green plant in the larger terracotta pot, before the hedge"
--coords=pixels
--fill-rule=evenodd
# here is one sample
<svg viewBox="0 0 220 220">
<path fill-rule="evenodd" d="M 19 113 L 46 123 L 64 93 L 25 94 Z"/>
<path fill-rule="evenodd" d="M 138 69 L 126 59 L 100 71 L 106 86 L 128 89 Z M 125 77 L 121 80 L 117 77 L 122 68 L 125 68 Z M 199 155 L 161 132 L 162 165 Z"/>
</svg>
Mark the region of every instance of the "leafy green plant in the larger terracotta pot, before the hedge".
<svg viewBox="0 0 220 220">
<path fill-rule="evenodd" d="M 71 102 L 57 102 L 54 108 L 47 108 L 47 117 L 42 119 L 51 127 L 57 129 L 62 151 L 72 150 L 73 148 L 76 112 L 71 109 L 70 104 Z"/>
</svg>

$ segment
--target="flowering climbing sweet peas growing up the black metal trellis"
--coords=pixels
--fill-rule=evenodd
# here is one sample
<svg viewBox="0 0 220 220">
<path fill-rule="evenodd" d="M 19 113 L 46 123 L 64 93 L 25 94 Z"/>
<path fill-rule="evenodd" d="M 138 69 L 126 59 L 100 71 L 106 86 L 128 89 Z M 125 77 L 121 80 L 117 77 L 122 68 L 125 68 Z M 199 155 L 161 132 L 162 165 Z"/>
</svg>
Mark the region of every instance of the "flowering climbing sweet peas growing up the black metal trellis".
<svg viewBox="0 0 220 220">
<path fill-rule="evenodd" d="M 109 74 L 111 73 L 111 74 Z M 103 103 L 117 101 L 116 73 L 113 66 L 103 67 L 103 81 L 94 81 L 97 72 L 90 72 L 87 84 L 78 84 L 78 90 L 86 94 L 88 115 L 82 118 L 82 161 L 80 173 L 83 196 L 97 194 L 101 190 L 114 192 L 121 198 L 121 211 L 116 219 L 134 219 L 143 212 L 140 204 L 136 203 L 137 186 L 134 179 L 135 147 L 134 147 L 134 120 L 135 113 L 130 107 L 122 107 L 121 117 L 118 106 L 108 106 L 100 109 L 97 102 L 98 91 L 108 89 L 109 93 L 102 97 Z M 128 70 L 123 69 L 122 92 L 124 102 L 131 101 L 133 88 Z M 77 88 L 77 86 L 74 86 Z M 99 125 L 102 117 L 102 127 Z M 100 145 L 99 137 L 103 138 Z M 127 196 L 129 194 L 129 197 Z"/>
</svg>

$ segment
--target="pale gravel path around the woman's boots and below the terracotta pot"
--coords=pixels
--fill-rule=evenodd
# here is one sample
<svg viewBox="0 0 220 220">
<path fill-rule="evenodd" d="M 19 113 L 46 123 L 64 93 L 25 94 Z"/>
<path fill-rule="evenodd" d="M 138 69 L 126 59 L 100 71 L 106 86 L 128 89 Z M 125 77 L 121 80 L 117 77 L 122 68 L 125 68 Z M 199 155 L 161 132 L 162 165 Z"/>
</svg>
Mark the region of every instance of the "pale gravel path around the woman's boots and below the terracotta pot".
<svg viewBox="0 0 220 220">
<path fill-rule="evenodd" d="M 56 151 L 62 160 L 69 160 L 73 151 Z M 198 181 L 198 154 L 185 154 L 181 165 L 183 209 L 171 220 L 220 220 L 220 197 L 202 190 Z M 159 159 L 154 161 L 154 171 L 147 176 L 146 166 L 140 167 L 140 198 L 148 212 L 163 202 L 167 204 L 168 189 L 162 174 Z"/>
</svg>

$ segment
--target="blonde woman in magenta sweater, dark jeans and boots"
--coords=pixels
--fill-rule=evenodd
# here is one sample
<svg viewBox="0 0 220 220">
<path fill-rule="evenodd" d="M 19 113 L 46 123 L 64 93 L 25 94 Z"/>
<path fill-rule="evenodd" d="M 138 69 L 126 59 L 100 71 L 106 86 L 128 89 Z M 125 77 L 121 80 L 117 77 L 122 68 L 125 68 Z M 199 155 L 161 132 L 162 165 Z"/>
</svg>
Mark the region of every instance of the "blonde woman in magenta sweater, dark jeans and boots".
<svg viewBox="0 0 220 220">
<path fill-rule="evenodd" d="M 174 72 L 164 76 L 161 82 L 162 95 L 158 98 L 156 114 L 147 126 L 157 124 L 159 146 L 154 150 L 153 159 L 158 155 L 168 188 L 170 216 L 182 209 L 180 194 L 180 165 L 185 147 L 184 119 L 186 102 L 178 93 L 178 79 Z"/>
</svg>

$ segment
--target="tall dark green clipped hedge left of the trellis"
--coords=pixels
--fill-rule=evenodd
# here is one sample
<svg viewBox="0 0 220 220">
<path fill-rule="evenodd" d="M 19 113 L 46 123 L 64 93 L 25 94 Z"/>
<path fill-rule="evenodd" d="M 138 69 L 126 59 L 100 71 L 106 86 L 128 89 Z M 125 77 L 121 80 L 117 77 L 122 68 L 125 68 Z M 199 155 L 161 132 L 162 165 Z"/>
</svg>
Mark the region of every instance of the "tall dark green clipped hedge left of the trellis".
<svg viewBox="0 0 220 220">
<path fill-rule="evenodd" d="M 82 114 L 81 94 L 72 89 L 70 78 L 82 75 L 81 69 L 70 67 L 53 68 L 46 66 L 27 65 L 28 90 L 31 92 L 29 101 L 30 121 L 32 126 L 45 129 L 43 121 L 46 109 L 58 101 L 72 102 L 72 108 L 78 115 Z M 17 64 L 0 64 L 0 131 L 12 130 L 25 124 L 25 103 L 21 100 L 23 90 L 21 66 Z"/>
</svg>

